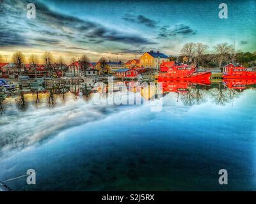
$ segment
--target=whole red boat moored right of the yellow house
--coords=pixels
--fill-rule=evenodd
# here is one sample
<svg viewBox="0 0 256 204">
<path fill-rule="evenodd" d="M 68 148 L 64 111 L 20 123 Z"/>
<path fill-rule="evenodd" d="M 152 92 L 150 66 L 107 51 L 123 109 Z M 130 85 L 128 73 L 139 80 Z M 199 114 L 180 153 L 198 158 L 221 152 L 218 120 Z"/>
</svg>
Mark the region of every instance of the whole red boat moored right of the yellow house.
<svg viewBox="0 0 256 204">
<path fill-rule="evenodd" d="M 182 80 L 182 81 L 196 81 L 204 82 L 209 81 L 211 77 L 211 71 L 202 73 L 196 72 L 195 67 L 189 67 L 188 65 L 173 66 L 168 69 L 166 73 L 159 73 L 158 82 Z"/>
</svg>

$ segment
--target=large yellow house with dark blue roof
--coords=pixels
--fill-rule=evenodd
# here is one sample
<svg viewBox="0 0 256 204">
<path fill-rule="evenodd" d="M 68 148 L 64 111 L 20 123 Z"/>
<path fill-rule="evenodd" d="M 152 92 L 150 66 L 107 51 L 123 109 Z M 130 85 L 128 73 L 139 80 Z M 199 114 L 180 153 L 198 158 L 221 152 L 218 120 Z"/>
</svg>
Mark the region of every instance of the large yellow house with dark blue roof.
<svg viewBox="0 0 256 204">
<path fill-rule="evenodd" d="M 143 66 L 145 68 L 160 68 L 160 64 L 163 61 L 168 62 L 169 57 L 159 51 L 154 52 L 153 50 L 151 50 L 150 52 L 145 52 L 140 57 L 140 66 Z"/>
</svg>

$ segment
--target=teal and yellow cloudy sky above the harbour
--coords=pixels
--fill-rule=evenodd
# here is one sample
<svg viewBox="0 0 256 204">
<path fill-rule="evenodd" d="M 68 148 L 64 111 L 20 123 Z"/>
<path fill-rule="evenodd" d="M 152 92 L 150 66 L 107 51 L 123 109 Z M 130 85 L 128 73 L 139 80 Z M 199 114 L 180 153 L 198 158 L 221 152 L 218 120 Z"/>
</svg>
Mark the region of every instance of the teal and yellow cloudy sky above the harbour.
<svg viewBox="0 0 256 204">
<path fill-rule="evenodd" d="M 35 3 L 36 18 L 26 17 Z M 220 3 L 228 18 L 219 18 Z M 149 50 L 179 55 L 185 43 L 202 42 L 209 52 L 227 42 L 244 52 L 256 51 L 256 0 L 247 1 L 18 1 L 0 0 L 0 54 L 26 57 L 88 55 L 127 61 Z M 5 57 L 4 57 L 5 59 Z"/>
</svg>

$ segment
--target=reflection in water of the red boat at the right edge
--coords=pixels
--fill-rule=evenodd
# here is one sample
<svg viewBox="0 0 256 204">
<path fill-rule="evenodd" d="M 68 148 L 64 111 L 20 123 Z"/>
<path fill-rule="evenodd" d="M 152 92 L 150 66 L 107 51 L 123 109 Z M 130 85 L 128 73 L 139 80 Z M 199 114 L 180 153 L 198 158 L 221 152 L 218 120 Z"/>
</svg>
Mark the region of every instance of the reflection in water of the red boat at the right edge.
<svg viewBox="0 0 256 204">
<path fill-rule="evenodd" d="M 248 85 L 256 84 L 255 79 L 224 79 L 223 84 L 228 87 L 228 89 L 246 89 Z"/>
</svg>

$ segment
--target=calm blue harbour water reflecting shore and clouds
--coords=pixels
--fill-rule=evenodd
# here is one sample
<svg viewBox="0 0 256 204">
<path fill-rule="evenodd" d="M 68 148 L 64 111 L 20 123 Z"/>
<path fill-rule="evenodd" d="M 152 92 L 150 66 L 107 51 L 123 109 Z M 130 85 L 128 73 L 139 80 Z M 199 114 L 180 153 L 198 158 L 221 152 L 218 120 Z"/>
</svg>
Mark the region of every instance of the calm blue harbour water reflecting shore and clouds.
<svg viewBox="0 0 256 204">
<path fill-rule="evenodd" d="M 37 172 L 35 186 L 6 182 L 13 190 L 256 190 L 255 85 L 167 91 L 160 112 L 72 92 L 1 101 L 0 180 Z"/>
</svg>

